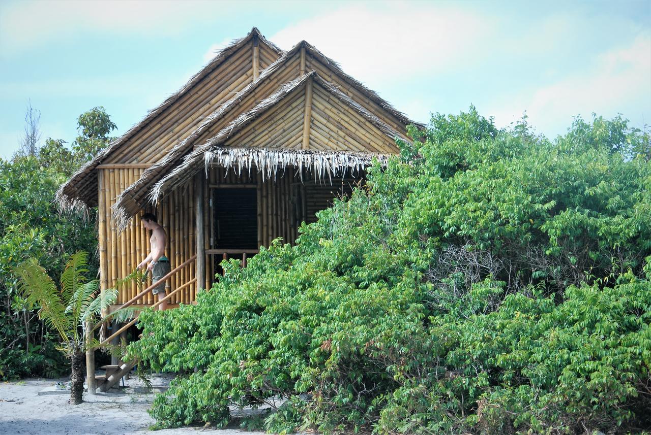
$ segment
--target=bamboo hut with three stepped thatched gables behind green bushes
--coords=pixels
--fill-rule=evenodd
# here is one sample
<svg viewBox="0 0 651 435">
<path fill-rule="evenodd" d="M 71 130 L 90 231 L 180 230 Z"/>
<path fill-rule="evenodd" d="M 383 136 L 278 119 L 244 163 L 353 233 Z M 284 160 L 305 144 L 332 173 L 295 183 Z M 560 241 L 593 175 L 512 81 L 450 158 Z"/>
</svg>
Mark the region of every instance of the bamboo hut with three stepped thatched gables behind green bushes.
<svg viewBox="0 0 651 435">
<path fill-rule="evenodd" d="M 294 242 L 373 158 L 409 141 L 409 123 L 309 43 L 281 51 L 254 28 L 79 169 L 57 200 L 97 207 L 102 291 L 145 258 L 139 216 L 157 214 L 178 269 L 169 302 L 189 304 L 224 258 L 245 265 L 275 238 Z M 118 304 L 134 297 L 135 284 Z M 152 303 L 151 294 L 136 301 Z"/>
</svg>

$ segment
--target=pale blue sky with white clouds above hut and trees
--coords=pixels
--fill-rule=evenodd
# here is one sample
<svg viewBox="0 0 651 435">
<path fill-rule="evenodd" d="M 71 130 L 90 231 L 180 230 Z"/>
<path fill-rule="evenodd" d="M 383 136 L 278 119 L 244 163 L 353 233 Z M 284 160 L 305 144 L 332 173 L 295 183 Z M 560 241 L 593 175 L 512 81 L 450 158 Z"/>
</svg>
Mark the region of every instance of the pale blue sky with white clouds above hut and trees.
<svg viewBox="0 0 651 435">
<path fill-rule="evenodd" d="M 651 0 L 0 0 L 0 157 L 29 101 L 41 142 L 71 143 L 95 106 L 119 136 L 254 26 L 312 43 L 415 121 L 475 105 L 549 138 L 593 113 L 651 124 Z"/>
</svg>

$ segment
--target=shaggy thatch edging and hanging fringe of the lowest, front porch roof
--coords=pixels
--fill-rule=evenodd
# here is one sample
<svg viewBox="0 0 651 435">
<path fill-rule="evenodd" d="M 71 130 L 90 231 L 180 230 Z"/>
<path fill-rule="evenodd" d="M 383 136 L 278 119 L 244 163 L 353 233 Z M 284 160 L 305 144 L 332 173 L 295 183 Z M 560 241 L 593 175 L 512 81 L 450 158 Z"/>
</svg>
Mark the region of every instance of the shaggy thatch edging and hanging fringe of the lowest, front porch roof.
<svg viewBox="0 0 651 435">
<path fill-rule="evenodd" d="M 240 151 L 236 155 L 229 155 L 224 152 L 223 143 L 234 134 L 238 133 L 243 127 L 249 125 L 256 118 L 261 116 L 271 107 L 277 105 L 288 95 L 292 94 L 298 89 L 302 89 L 306 81 L 313 80 L 315 84 L 322 86 L 324 90 L 339 99 L 344 105 L 352 108 L 358 114 L 363 116 L 368 122 L 374 125 L 380 132 L 385 134 L 392 142 L 395 138 L 402 137 L 402 134 L 389 127 L 386 123 L 381 121 L 377 116 L 368 112 L 363 106 L 359 105 L 348 95 L 341 92 L 329 82 L 324 80 L 316 72 L 311 71 L 294 81 L 284 84 L 277 92 L 270 95 L 270 97 L 260 101 L 253 109 L 249 110 L 238 116 L 234 121 L 229 123 L 223 128 L 214 138 L 208 140 L 204 145 L 201 145 L 189 153 L 182 161 L 181 164 L 174 166 L 164 177 L 156 182 L 153 190 L 149 191 L 143 186 L 141 190 L 137 191 L 131 189 L 131 192 L 124 192 L 120 196 L 120 200 L 113 206 L 114 217 L 118 220 L 120 225 L 126 225 L 126 221 L 138 212 L 140 208 L 145 206 L 146 202 L 156 203 L 161 197 L 169 192 L 174 186 L 179 186 L 187 182 L 201 170 L 205 165 L 206 167 L 213 162 L 223 163 L 227 158 L 234 158 L 234 162 L 243 162 L 243 158 L 254 159 L 260 162 L 262 166 L 256 164 L 258 171 L 262 171 L 263 177 L 273 177 L 283 162 L 287 164 L 294 164 L 298 166 L 310 166 L 313 170 L 315 177 L 321 178 L 326 175 L 331 176 L 337 173 L 339 169 L 359 168 L 360 165 L 368 164 L 372 157 L 378 156 L 373 153 L 355 153 L 352 151 L 310 151 L 299 149 L 285 149 L 285 150 L 269 150 L 269 149 L 251 149 L 252 151 Z M 273 152 L 272 152 L 273 151 Z M 268 155 L 269 158 L 264 158 Z M 235 158 L 237 157 L 237 158 Z M 380 155 L 381 158 L 384 158 Z M 216 160 L 215 160 L 216 159 Z M 222 160 L 220 160 L 222 159 Z M 293 160 L 292 160 L 293 159 Z M 251 160 L 253 162 L 253 160 Z M 248 168 L 251 168 L 251 162 Z M 339 168 L 339 169 L 337 169 Z M 273 171 L 271 171 L 273 169 Z M 284 170 L 284 169 L 283 169 Z M 135 185 L 133 186 L 135 187 Z M 127 193 L 127 194 L 125 194 Z M 135 196 L 139 198 L 136 200 Z"/>
</svg>

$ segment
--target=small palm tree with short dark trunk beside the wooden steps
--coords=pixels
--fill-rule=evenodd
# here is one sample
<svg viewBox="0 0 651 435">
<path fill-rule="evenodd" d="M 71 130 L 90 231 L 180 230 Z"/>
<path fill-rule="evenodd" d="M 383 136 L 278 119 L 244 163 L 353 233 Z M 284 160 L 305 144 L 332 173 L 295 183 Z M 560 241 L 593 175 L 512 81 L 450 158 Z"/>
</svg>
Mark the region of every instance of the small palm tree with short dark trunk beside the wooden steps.
<svg viewBox="0 0 651 435">
<path fill-rule="evenodd" d="M 84 354 L 87 349 L 98 347 L 97 340 L 85 339 L 86 325 L 94 323 L 102 309 L 117 299 L 117 290 L 99 292 L 98 280 L 87 282 L 84 277 L 87 265 L 87 253 L 79 251 L 70 256 L 59 289 L 34 258 L 16 268 L 27 303 L 30 307 L 40 306 L 38 317 L 59 332 L 61 343 L 57 349 L 70 358 L 71 404 L 83 402 Z"/>
</svg>

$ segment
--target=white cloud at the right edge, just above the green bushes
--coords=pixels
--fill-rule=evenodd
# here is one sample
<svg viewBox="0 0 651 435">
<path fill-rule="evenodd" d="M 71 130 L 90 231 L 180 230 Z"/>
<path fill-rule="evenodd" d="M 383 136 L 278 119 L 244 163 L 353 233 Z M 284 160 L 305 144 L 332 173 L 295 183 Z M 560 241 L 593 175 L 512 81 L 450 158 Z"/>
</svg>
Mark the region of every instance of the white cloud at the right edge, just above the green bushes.
<svg viewBox="0 0 651 435">
<path fill-rule="evenodd" d="M 634 125 L 651 116 L 651 35 L 640 34 L 626 47 L 598 56 L 594 64 L 580 73 L 562 77 L 491 110 L 499 125 L 521 118 L 546 134 L 557 134 L 568 127 L 572 116 L 588 118 L 592 112 L 611 117 L 622 113 Z M 631 112 L 632 111 L 632 112 Z M 646 117 L 646 118 L 645 118 Z"/>
</svg>

